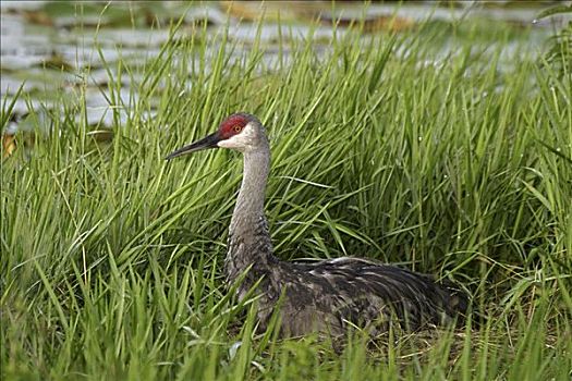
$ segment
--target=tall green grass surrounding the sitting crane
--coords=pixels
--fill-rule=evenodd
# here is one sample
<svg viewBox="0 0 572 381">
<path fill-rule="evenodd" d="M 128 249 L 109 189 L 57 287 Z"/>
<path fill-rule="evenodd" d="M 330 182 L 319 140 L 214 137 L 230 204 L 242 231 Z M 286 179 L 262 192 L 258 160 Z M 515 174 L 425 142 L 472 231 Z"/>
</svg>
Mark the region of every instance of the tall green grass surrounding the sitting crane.
<svg viewBox="0 0 572 381">
<path fill-rule="evenodd" d="M 200 33 L 173 40 L 143 67 L 108 67 L 117 121 L 131 112 L 108 144 L 75 121 L 78 87 L 50 134 L 37 125 L 34 148 L 2 161 L 2 379 L 569 380 L 570 71 L 503 62 L 501 33 L 490 47 L 464 30 L 443 57 L 431 28 L 349 34 L 321 53 L 284 28 L 276 63 L 228 36 L 214 57 Z M 137 71 L 138 101 L 122 105 L 120 76 Z M 221 276 L 240 155 L 163 160 L 239 110 L 271 137 L 280 258 L 435 273 L 463 284 L 487 322 L 356 333 L 341 354 L 255 333 L 252 303 Z M 4 102 L 3 126 L 9 113 Z"/>
</svg>

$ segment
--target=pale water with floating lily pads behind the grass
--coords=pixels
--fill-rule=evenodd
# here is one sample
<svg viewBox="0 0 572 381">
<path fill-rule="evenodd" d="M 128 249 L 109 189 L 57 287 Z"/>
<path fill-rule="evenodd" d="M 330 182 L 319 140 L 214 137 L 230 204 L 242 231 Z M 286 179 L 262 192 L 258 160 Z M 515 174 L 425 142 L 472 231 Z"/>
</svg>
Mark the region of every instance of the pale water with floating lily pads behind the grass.
<svg viewBox="0 0 572 381">
<path fill-rule="evenodd" d="M 260 42 L 266 47 L 265 63 L 272 67 L 278 60 L 277 42 L 280 35 L 304 39 L 313 30 L 317 49 L 327 50 L 333 37 L 333 23 L 339 22 L 337 33 L 345 33 L 345 26 L 360 19 L 365 20 L 370 34 L 385 33 L 388 28 L 409 29 L 422 21 L 461 23 L 466 17 L 495 20 L 514 28 L 526 30 L 532 49 L 540 51 L 549 35 L 553 20 L 536 20 L 541 8 L 512 7 L 511 2 L 486 8 L 478 2 L 459 2 L 459 7 L 436 8 L 433 2 L 397 4 L 374 3 L 330 4 L 295 2 L 283 4 L 267 2 L 206 2 L 188 5 L 186 2 L 88 2 L 68 3 L 50 1 L 2 1 L 1 5 L 1 85 L 2 103 L 10 103 L 17 91 L 5 134 L 33 130 L 26 123 L 26 114 L 34 112 L 47 118 L 47 110 L 58 108 L 62 101 L 76 101 L 80 89 L 86 86 L 87 123 L 94 128 L 109 128 L 115 122 L 111 108 L 119 108 L 120 120 L 126 121 L 130 109 L 137 102 L 132 82 L 141 76 L 123 76 L 120 85 L 119 105 L 110 106 L 109 81 L 106 67 L 117 67 L 119 60 L 131 65 L 142 65 L 157 57 L 163 44 L 170 39 L 171 21 L 183 16 L 183 26 L 175 38 L 188 37 L 195 28 L 206 25 L 214 36 L 210 48 L 217 51 L 220 36 L 229 28 L 229 38 L 239 42 L 234 52 L 239 59 L 255 41 L 257 20 L 265 14 L 260 29 Z M 502 7 L 507 5 L 507 7 Z M 511 7 L 509 7 L 511 5 Z M 530 4 L 528 4 L 530 5 Z M 546 7 L 546 4 L 544 5 Z M 228 16 L 230 14 L 230 17 Z M 391 17 L 397 16 L 391 24 Z M 319 20 L 319 25 L 313 20 Z M 279 22 L 280 21 L 280 22 Z M 558 20 L 564 23 L 565 20 Z M 516 47 L 522 40 L 503 49 L 507 64 L 521 53 Z M 439 57 L 447 57 L 454 49 L 445 45 Z M 522 50 L 522 49 L 521 49 Z M 285 54 L 288 60 L 288 52 Z M 287 62 L 288 63 L 288 62 Z M 111 70 L 111 77 L 114 76 Z M 191 86 L 191 84 L 190 84 Z M 151 110 L 149 118 L 153 118 Z M 80 116 L 78 116 L 80 118 Z M 49 124 L 49 123 L 48 123 Z"/>
</svg>

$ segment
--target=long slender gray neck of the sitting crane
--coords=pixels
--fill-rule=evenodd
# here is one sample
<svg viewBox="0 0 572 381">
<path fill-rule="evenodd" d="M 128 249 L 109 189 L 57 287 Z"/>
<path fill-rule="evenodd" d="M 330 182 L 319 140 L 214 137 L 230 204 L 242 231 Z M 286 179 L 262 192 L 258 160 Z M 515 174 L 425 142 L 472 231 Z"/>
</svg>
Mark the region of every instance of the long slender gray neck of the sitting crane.
<svg viewBox="0 0 572 381">
<path fill-rule="evenodd" d="M 264 212 L 266 183 L 270 171 L 268 144 L 244 153 L 244 174 L 232 213 L 224 270 L 234 280 L 252 265 L 263 268 L 272 260 L 272 244 Z M 259 267 L 257 267 L 259 268 Z"/>
</svg>

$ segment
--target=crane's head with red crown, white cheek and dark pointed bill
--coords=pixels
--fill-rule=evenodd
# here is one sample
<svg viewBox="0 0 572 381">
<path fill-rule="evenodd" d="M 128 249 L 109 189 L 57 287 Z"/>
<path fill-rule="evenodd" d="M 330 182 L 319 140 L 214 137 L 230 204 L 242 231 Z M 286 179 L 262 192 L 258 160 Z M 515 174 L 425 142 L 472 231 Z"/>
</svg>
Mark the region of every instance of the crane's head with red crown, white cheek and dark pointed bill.
<svg viewBox="0 0 572 381">
<path fill-rule="evenodd" d="M 166 159 L 209 148 L 232 148 L 243 153 L 254 152 L 268 147 L 266 132 L 260 121 L 248 113 L 238 112 L 220 123 L 217 132 L 195 143 L 184 146 Z"/>
</svg>

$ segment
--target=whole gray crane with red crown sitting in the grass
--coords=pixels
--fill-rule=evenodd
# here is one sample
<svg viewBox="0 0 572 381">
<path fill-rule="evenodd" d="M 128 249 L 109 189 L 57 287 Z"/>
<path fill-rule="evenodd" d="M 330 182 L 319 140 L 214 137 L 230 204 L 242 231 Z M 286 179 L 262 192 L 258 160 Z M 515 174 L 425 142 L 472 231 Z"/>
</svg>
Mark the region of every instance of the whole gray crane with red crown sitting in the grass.
<svg viewBox="0 0 572 381">
<path fill-rule="evenodd" d="M 309 332 L 341 335 L 350 325 L 373 333 L 391 322 L 409 329 L 455 321 L 467 308 L 464 294 L 428 275 L 360 258 L 320 262 L 288 262 L 273 255 L 264 212 L 270 169 L 270 149 L 261 123 L 253 115 L 236 113 L 221 123 L 217 133 L 174 151 L 168 158 L 205 148 L 234 148 L 243 152 L 244 175 L 232 214 L 227 283 L 238 284 L 242 299 L 256 286 L 258 321 L 265 328 L 280 308 L 281 333 Z"/>
</svg>

